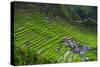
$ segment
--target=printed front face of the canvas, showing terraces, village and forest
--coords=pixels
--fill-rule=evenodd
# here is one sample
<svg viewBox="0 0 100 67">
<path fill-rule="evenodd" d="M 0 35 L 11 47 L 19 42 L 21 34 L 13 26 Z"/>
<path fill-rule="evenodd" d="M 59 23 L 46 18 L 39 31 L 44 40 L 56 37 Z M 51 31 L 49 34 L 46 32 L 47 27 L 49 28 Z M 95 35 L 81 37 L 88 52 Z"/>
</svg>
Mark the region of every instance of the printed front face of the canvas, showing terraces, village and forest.
<svg viewBox="0 0 100 67">
<path fill-rule="evenodd" d="M 97 7 L 12 2 L 14 65 L 97 60 Z"/>
</svg>

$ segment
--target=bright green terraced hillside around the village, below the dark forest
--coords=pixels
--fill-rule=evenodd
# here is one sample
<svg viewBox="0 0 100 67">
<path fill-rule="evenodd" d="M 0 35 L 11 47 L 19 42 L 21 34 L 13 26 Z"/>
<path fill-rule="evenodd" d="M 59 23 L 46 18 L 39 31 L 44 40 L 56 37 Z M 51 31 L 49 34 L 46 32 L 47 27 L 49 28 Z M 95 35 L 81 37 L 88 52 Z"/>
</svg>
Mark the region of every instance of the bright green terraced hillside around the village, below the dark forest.
<svg viewBox="0 0 100 67">
<path fill-rule="evenodd" d="M 96 33 L 71 25 L 60 17 L 48 17 L 39 12 L 16 11 L 15 64 L 80 62 L 80 55 L 71 52 L 71 48 L 63 44 L 64 37 L 91 47 L 92 50 L 88 51 L 86 56 L 89 61 L 97 59 Z"/>
</svg>

